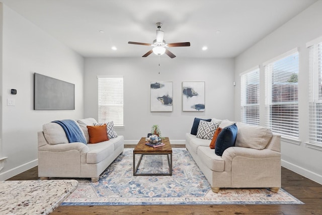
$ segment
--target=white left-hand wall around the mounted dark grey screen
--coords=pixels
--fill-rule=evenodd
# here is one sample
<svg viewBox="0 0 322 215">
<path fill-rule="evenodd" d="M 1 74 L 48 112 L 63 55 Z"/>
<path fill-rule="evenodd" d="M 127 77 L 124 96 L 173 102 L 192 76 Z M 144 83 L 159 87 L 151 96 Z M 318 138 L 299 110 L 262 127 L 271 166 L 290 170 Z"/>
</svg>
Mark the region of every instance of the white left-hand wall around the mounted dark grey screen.
<svg viewBox="0 0 322 215">
<path fill-rule="evenodd" d="M 37 165 L 37 131 L 55 119 L 84 115 L 84 58 L 3 6 L 2 149 L 8 157 L 0 180 Z M 75 84 L 75 110 L 33 110 L 33 74 L 39 73 Z M 10 89 L 17 89 L 11 95 Z M 14 99 L 15 106 L 7 106 Z"/>
</svg>

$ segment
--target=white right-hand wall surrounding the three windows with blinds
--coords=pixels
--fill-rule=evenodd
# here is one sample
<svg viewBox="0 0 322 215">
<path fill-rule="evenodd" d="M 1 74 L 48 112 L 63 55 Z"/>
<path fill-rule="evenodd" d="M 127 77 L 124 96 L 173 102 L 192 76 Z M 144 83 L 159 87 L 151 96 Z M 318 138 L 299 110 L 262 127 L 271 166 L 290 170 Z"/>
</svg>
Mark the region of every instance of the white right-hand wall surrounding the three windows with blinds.
<svg viewBox="0 0 322 215">
<path fill-rule="evenodd" d="M 261 124 L 264 122 L 264 69 L 262 63 L 293 48 L 299 49 L 299 142 L 282 140 L 282 165 L 307 178 L 322 184 L 322 146 L 309 148 L 308 141 L 308 50 L 306 42 L 322 36 L 322 1 L 291 19 L 289 22 L 266 36 L 260 42 L 235 58 L 235 117 L 240 120 L 239 74 L 256 65 L 261 65 Z M 294 144 L 295 143 L 295 144 Z"/>
</svg>

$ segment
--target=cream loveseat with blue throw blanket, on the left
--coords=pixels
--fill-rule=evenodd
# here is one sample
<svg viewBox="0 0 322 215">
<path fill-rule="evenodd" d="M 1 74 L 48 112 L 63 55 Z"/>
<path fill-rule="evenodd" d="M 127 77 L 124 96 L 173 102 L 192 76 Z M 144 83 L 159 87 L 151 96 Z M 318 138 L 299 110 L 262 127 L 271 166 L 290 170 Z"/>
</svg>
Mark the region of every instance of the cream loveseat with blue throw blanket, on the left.
<svg viewBox="0 0 322 215">
<path fill-rule="evenodd" d="M 91 178 L 96 182 L 100 174 L 123 152 L 123 136 L 89 144 L 87 125 L 92 126 L 97 121 L 94 118 L 75 121 L 84 132 L 87 144 L 68 143 L 65 131 L 54 122 L 44 124 L 43 131 L 38 132 L 38 176 L 41 179 Z"/>
</svg>

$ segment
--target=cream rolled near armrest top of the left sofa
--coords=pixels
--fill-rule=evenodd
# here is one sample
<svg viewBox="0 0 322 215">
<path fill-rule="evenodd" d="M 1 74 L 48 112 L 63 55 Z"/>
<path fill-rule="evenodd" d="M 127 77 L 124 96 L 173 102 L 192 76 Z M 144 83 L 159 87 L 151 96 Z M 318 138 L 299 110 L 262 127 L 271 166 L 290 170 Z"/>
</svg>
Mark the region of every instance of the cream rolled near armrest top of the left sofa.
<svg viewBox="0 0 322 215">
<path fill-rule="evenodd" d="M 67 152 L 76 150 L 79 154 L 83 155 L 90 151 L 89 147 L 83 142 L 70 142 L 69 144 L 46 144 L 45 146 L 38 147 L 39 152 Z"/>
</svg>

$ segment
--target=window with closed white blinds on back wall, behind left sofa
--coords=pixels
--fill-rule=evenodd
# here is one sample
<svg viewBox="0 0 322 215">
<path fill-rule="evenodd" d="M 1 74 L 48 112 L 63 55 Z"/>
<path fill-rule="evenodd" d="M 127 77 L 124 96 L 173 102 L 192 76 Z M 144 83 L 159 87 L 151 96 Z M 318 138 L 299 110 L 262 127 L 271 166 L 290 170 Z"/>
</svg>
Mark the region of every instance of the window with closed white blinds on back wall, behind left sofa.
<svg viewBox="0 0 322 215">
<path fill-rule="evenodd" d="M 123 125 L 123 77 L 98 76 L 99 122 Z"/>
</svg>

